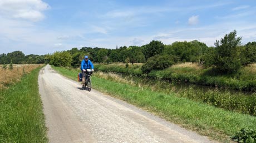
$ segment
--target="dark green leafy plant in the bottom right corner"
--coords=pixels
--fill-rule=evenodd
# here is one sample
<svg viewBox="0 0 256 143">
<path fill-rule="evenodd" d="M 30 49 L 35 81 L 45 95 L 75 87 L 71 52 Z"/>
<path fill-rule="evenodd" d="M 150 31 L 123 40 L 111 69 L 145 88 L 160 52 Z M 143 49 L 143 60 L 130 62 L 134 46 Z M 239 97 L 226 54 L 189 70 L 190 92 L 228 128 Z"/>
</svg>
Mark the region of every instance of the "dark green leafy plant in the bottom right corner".
<svg viewBox="0 0 256 143">
<path fill-rule="evenodd" d="M 237 142 L 256 142 L 256 131 L 253 129 L 243 128 L 237 135 L 232 137 L 233 141 Z"/>
</svg>

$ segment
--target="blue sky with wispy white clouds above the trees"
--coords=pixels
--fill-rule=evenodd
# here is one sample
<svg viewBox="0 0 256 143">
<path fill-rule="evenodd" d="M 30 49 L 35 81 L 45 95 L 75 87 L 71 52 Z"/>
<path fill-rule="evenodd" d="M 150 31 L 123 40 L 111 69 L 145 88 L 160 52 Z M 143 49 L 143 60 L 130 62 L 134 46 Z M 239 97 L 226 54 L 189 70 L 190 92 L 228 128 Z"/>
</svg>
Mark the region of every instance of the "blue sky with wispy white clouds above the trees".
<svg viewBox="0 0 256 143">
<path fill-rule="evenodd" d="M 256 41 L 256 1 L 0 0 L 0 54 L 115 49 L 160 40 L 208 46 L 237 30 Z"/>
</svg>

